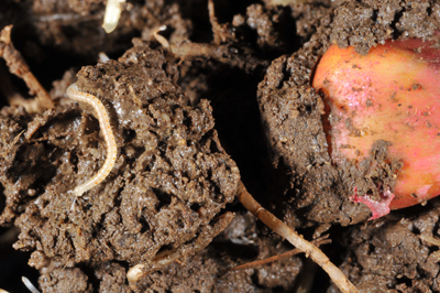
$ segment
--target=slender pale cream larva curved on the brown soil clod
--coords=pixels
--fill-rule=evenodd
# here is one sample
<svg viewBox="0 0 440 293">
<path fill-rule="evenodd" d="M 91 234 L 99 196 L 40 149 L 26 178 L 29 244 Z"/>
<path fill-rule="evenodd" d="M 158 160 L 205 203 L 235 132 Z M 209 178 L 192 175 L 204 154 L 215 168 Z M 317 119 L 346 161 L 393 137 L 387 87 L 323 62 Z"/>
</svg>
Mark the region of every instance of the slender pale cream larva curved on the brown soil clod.
<svg viewBox="0 0 440 293">
<path fill-rule="evenodd" d="M 76 186 L 74 189 L 74 194 L 76 196 L 81 196 L 85 192 L 101 183 L 113 169 L 114 162 L 117 160 L 118 146 L 117 141 L 114 140 L 113 132 L 111 131 L 109 112 L 107 111 L 103 104 L 97 97 L 87 93 L 79 91 L 76 84 L 70 85 L 67 88 L 66 94 L 73 100 L 87 102 L 88 105 L 94 107 L 98 116 L 99 126 L 107 143 L 107 159 L 102 167 L 98 171 L 97 174 L 95 174 L 95 176 L 86 181 L 84 184 Z"/>
</svg>

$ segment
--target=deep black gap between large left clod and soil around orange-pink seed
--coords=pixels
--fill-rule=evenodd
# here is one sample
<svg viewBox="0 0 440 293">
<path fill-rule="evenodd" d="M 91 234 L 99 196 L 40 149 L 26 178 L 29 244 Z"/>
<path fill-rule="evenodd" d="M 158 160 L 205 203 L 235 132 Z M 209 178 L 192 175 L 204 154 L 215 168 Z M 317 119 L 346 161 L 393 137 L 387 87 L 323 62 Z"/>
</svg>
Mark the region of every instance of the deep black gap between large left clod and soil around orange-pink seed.
<svg viewBox="0 0 440 293">
<path fill-rule="evenodd" d="M 221 146 L 235 161 L 248 191 L 264 202 L 285 186 L 286 177 L 271 162 L 255 99 L 263 76 L 228 66 L 205 74 L 208 86 L 199 96 L 211 101 Z"/>
</svg>

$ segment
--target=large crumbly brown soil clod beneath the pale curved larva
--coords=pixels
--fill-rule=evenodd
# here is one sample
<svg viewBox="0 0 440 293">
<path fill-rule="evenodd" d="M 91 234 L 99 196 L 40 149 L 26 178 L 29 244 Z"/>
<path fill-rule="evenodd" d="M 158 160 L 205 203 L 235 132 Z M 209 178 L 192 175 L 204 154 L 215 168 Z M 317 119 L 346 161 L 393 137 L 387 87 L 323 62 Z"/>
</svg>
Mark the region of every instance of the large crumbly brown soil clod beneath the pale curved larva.
<svg viewBox="0 0 440 293">
<path fill-rule="evenodd" d="M 175 84 L 175 65 L 141 41 L 119 61 L 84 67 L 77 77 L 79 89 L 110 112 L 116 165 L 70 208 L 70 191 L 107 155 L 94 112 L 70 104 L 30 119 L 3 109 L 7 200 L 0 220 L 22 213 L 14 248 L 34 250 L 30 264 L 46 274 L 112 260 L 157 270 L 157 253 L 185 258 L 201 250 L 230 223 L 231 213 L 215 217 L 240 181 L 218 141 L 209 102 L 191 107 Z"/>
</svg>

